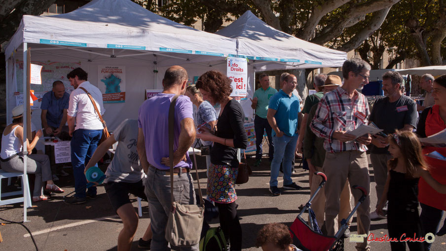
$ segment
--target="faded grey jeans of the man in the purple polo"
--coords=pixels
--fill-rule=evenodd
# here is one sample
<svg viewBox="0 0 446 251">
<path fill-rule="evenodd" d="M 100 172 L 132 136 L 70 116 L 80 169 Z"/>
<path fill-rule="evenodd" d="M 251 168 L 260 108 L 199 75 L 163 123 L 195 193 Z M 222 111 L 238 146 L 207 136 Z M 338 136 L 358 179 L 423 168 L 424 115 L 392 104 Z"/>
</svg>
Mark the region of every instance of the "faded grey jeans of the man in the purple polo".
<svg viewBox="0 0 446 251">
<path fill-rule="evenodd" d="M 150 250 L 198 251 L 198 245 L 182 248 L 167 246 L 169 243 L 164 235 L 171 208 L 170 175 L 166 174 L 165 170 L 150 166 L 144 192 L 149 200 L 150 227 L 153 233 Z M 194 205 L 196 202 L 193 179 L 189 173 L 174 174 L 173 192 L 174 201 L 182 205 Z M 188 229 L 188 231 L 194 231 L 194 229 Z M 200 235 L 200 232 L 196 234 Z"/>
</svg>

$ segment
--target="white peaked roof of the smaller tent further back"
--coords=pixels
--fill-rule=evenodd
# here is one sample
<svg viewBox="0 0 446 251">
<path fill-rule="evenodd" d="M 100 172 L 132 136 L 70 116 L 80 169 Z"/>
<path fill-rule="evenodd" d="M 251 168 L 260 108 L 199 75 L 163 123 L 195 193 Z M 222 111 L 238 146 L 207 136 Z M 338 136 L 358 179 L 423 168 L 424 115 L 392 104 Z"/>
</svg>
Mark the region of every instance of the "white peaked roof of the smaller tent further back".
<svg viewBox="0 0 446 251">
<path fill-rule="evenodd" d="M 284 68 L 284 64 L 290 68 L 340 67 L 347 59 L 345 52 L 278 31 L 249 10 L 216 34 L 236 38 L 239 55 L 268 61 L 260 64 L 261 70 Z"/>
</svg>

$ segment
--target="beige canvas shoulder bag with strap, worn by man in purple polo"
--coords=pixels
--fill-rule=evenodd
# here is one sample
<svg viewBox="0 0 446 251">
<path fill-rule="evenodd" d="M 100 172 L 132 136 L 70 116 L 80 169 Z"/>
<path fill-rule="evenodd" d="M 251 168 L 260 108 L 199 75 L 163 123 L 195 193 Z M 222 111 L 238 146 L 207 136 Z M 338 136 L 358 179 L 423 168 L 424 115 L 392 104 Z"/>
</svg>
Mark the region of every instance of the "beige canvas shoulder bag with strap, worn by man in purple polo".
<svg viewBox="0 0 446 251">
<path fill-rule="evenodd" d="M 198 178 L 197 161 L 195 151 L 193 160 L 197 174 L 198 194 L 200 205 L 181 205 L 174 201 L 174 114 L 175 103 L 178 95 L 172 99 L 169 108 L 169 161 L 170 161 L 170 192 L 171 209 L 166 225 L 166 240 L 175 247 L 191 247 L 200 242 L 200 233 L 204 218 L 204 200 L 201 194 L 200 180 Z"/>
</svg>

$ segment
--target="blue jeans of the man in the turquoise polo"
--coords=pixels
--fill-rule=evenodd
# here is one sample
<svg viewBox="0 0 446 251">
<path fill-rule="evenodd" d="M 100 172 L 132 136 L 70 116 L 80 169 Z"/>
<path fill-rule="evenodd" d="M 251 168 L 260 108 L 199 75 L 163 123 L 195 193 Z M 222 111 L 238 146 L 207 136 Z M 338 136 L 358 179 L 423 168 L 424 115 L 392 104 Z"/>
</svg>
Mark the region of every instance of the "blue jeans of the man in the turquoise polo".
<svg viewBox="0 0 446 251">
<path fill-rule="evenodd" d="M 273 136 L 274 143 L 274 159 L 271 162 L 271 178 L 269 186 L 277 186 L 277 176 L 279 176 L 280 163 L 283 159 L 283 184 L 289 185 L 293 183 L 291 179 L 292 160 L 296 149 L 297 135 L 290 137 L 283 135 L 282 137 Z"/>
</svg>

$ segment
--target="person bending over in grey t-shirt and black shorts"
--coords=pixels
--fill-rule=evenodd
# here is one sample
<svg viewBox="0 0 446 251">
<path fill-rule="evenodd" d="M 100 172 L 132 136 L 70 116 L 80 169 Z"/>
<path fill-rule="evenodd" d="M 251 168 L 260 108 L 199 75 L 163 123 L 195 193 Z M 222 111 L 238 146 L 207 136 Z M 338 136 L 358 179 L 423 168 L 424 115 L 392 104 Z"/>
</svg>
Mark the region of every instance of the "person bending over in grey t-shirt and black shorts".
<svg viewBox="0 0 446 251">
<path fill-rule="evenodd" d="M 104 183 L 111 206 L 124 224 L 119 233 L 118 250 L 130 250 L 138 227 L 138 215 L 129 199 L 129 193 L 147 200 L 142 181 L 144 171 L 136 149 L 138 120 L 126 119 L 122 121 L 111 136 L 98 146 L 85 167 L 85 173 L 107 153 L 114 143 L 118 142 L 113 160 L 105 172 L 107 178 Z M 151 238 L 152 232 L 149 224 L 143 238 L 140 238 L 138 242 L 138 247 L 150 248 Z"/>
</svg>

